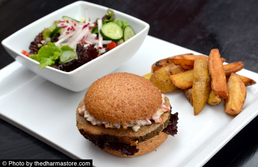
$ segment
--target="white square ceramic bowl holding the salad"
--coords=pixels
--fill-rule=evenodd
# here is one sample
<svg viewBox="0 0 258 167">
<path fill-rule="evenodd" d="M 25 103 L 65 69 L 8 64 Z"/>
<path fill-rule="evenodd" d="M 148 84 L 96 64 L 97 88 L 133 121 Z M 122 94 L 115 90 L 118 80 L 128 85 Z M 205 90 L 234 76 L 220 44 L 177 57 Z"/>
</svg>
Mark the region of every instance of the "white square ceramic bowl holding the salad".
<svg viewBox="0 0 258 167">
<path fill-rule="evenodd" d="M 61 19 L 63 15 L 80 20 L 84 16 L 85 8 L 88 8 L 88 16 L 91 19 L 102 18 L 108 10 L 104 6 L 85 1 L 77 1 L 20 29 L 5 38 L 2 41 L 2 45 L 16 61 L 39 76 L 71 91 L 82 91 L 89 87 L 95 80 L 111 73 L 129 60 L 142 45 L 150 27 L 144 21 L 111 9 L 114 11 L 114 18 L 127 21 L 133 27 L 136 35 L 71 72 L 64 72 L 50 66 L 41 69 L 39 62 L 21 54 L 22 50 L 28 49 L 36 35 L 44 28 L 50 27 L 55 20 Z"/>
</svg>

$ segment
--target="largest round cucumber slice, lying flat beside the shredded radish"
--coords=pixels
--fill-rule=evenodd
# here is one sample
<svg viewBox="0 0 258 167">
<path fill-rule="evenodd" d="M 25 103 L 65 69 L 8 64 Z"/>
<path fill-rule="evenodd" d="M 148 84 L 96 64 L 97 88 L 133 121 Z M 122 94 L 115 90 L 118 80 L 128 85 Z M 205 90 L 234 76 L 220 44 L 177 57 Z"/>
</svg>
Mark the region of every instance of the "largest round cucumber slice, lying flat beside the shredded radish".
<svg viewBox="0 0 258 167">
<path fill-rule="evenodd" d="M 117 23 L 108 22 L 101 27 L 100 34 L 106 40 L 117 42 L 123 37 L 123 30 Z"/>
</svg>

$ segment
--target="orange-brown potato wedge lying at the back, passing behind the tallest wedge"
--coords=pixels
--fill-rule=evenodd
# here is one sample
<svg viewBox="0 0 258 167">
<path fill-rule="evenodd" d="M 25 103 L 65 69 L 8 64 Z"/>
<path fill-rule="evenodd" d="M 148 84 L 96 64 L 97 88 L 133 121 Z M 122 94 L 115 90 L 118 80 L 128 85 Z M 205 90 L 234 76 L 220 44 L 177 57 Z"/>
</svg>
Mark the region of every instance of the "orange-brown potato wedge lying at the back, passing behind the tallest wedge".
<svg viewBox="0 0 258 167">
<path fill-rule="evenodd" d="M 193 64 L 196 59 L 204 59 L 208 61 L 209 57 L 204 55 L 182 54 L 172 56 L 170 59 L 175 65 L 180 65 L 183 69 L 191 70 L 193 69 Z M 221 61 L 225 62 L 226 60 L 221 58 Z"/>
</svg>

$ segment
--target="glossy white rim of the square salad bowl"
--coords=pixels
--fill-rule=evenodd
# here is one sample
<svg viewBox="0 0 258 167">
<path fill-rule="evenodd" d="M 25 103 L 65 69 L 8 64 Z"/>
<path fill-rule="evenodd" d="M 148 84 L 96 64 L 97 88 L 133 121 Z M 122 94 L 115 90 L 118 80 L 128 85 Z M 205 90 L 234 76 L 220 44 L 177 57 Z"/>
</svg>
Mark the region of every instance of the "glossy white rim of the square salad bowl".
<svg viewBox="0 0 258 167">
<path fill-rule="evenodd" d="M 40 21 L 42 21 L 43 19 L 45 19 L 45 18 L 47 18 L 47 17 L 49 17 L 49 16 L 55 15 L 55 13 L 58 13 L 59 11 L 65 10 L 66 8 L 68 8 L 68 7 L 70 7 L 70 6 L 76 6 L 77 4 L 81 4 L 81 3 L 82 3 L 82 4 L 86 4 L 86 5 L 87 5 L 87 4 L 90 4 L 90 5 L 92 5 L 92 6 L 96 6 L 96 7 L 99 7 L 99 8 L 110 9 L 110 10 L 114 11 L 114 13 L 118 13 L 118 14 L 120 14 L 120 15 L 124 15 L 125 17 L 127 17 L 127 18 L 129 18 L 129 19 L 131 19 L 131 20 L 134 20 L 134 21 L 136 21 L 136 22 L 141 23 L 142 25 L 144 25 L 144 28 L 141 29 L 137 34 L 135 34 L 135 36 L 133 36 L 132 38 L 128 39 L 128 40 L 125 41 L 123 44 L 121 44 L 121 46 L 120 46 L 120 45 L 117 46 L 116 48 L 114 48 L 114 49 L 112 49 L 112 50 L 110 50 L 110 51 L 104 53 L 103 55 L 101 55 L 101 56 L 99 56 L 99 57 L 96 57 L 95 59 L 93 59 L 93 60 L 91 60 L 91 61 L 89 61 L 89 62 L 87 62 L 87 63 L 85 63 L 85 64 L 83 64 L 83 65 L 81 65 L 81 66 L 79 66 L 79 67 L 76 68 L 75 70 L 72 70 L 72 71 L 70 71 L 70 72 L 66 72 L 66 71 L 62 71 L 62 70 L 59 70 L 59 69 L 55 69 L 55 68 L 53 68 L 53 67 L 51 67 L 51 66 L 45 66 L 45 68 L 47 68 L 48 70 L 51 70 L 51 71 L 54 71 L 54 72 L 57 72 L 57 73 L 61 73 L 61 74 L 65 74 L 65 75 L 72 75 L 72 74 L 74 74 L 74 73 L 77 73 L 78 71 L 81 71 L 83 68 L 85 68 L 88 64 L 91 64 L 91 63 L 94 63 L 95 61 L 98 61 L 98 59 L 101 59 L 101 57 L 104 57 L 104 56 L 106 57 L 106 56 L 108 56 L 109 54 L 112 54 L 112 52 L 115 52 L 115 50 L 119 49 L 119 47 L 124 46 L 124 44 L 127 44 L 129 41 L 133 40 L 133 39 L 136 38 L 137 36 L 140 36 L 140 34 L 142 34 L 143 32 L 145 32 L 145 31 L 146 31 L 147 29 L 149 29 L 149 27 L 150 27 L 150 25 L 149 25 L 147 22 L 145 22 L 145 21 L 142 21 L 142 20 L 140 20 L 140 19 L 138 19 L 138 18 L 135 18 L 134 16 L 128 15 L 128 14 L 126 14 L 126 13 L 123 13 L 123 12 L 120 12 L 120 11 L 117 11 L 117 10 L 114 10 L 114 9 L 111 9 L 111 8 L 109 8 L 109 7 L 105 7 L 105 6 L 102 6 L 102 5 L 99 5 L 99 4 L 94 4 L 94 3 L 86 2 L 86 1 L 76 1 L 76 2 L 73 2 L 73 3 L 68 4 L 68 5 L 66 5 L 66 6 L 63 6 L 63 7 L 61 7 L 60 9 L 55 10 L 55 11 L 53 11 L 53 12 L 51 12 L 51 13 L 49 13 L 49 14 L 43 16 L 42 18 L 39 18 L 38 20 L 36 20 L 36 21 L 34 21 L 34 22 L 31 22 L 31 23 L 28 24 L 27 26 L 25 26 L 25 27 L 19 29 L 18 31 L 14 32 L 14 33 L 11 34 L 10 36 L 8 36 L 8 37 L 6 37 L 5 39 L 3 39 L 2 42 L 1 42 L 1 44 L 2 44 L 5 48 L 8 48 L 9 50 L 11 50 L 11 51 L 14 52 L 15 54 L 17 54 L 17 56 L 21 56 L 21 57 L 27 59 L 28 61 L 31 61 L 32 63 L 35 63 L 35 64 L 38 65 L 39 62 L 37 62 L 37 61 L 35 61 L 35 60 L 29 58 L 28 56 L 23 55 L 21 52 L 18 52 L 17 50 L 15 50 L 14 48 L 12 48 L 12 47 L 7 43 L 7 40 L 8 40 L 9 38 L 12 38 L 13 36 L 19 34 L 21 31 L 23 31 L 23 30 L 25 30 L 25 29 L 28 29 L 32 24 L 35 24 L 35 23 L 37 23 L 37 22 L 40 22 Z M 44 69 L 42 69 L 42 70 L 44 70 Z"/>
</svg>

